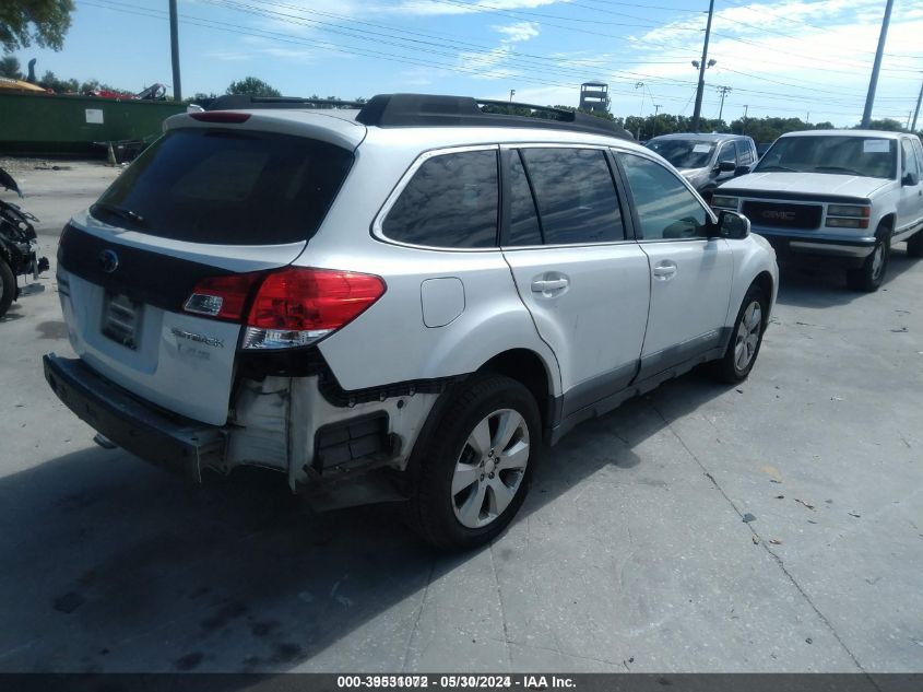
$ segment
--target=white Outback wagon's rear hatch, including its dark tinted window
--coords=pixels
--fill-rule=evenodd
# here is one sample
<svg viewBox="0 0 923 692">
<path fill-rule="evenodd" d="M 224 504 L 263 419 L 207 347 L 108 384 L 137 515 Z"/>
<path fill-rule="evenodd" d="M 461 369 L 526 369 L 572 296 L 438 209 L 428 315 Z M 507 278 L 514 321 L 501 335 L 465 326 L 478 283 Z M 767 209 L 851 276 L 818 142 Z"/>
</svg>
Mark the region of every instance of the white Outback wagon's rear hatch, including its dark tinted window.
<svg viewBox="0 0 923 692">
<path fill-rule="evenodd" d="M 61 304 L 91 367 L 168 411 L 221 425 L 249 304 L 322 224 L 365 128 L 292 112 L 168 125 L 66 227 Z"/>
</svg>

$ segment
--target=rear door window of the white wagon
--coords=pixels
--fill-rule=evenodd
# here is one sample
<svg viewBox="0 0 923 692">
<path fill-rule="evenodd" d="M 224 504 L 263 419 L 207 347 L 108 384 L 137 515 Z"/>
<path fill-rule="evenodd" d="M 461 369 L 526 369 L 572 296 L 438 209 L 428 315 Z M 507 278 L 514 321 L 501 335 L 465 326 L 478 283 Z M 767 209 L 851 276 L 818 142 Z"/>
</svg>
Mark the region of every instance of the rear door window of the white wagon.
<svg viewBox="0 0 923 692">
<path fill-rule="evenodd" d="M 546 245 L 625 239 L 615 184 L 599 149 L 523 149 Z"/>
</svg>

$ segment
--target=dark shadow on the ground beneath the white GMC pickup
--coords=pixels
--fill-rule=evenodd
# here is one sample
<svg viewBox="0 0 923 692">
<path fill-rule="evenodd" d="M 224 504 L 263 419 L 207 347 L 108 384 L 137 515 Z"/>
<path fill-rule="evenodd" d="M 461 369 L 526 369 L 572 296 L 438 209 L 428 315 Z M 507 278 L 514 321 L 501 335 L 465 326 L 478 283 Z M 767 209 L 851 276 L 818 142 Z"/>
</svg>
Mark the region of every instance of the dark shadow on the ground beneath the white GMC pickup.
<svg viewBox="0 0 923 692">
<path fill-rule="evenodd" d="M 891 248 L 887 274 L 880 290 L 887 289 L 892 281 L 899 281 L 901 274 L 913 269 L 920 262 L 907 254 L 903 243 Z M 779 267 L 779 296 L 781 305 L 796 307 L 830 307 L 847 305 L 853 301 L 868 297 L 869 293 L 852 291 L 847 288 L 845 270 L 830 262 L 808 265 L 805 261 L 783 263 Z"/>
</svg>

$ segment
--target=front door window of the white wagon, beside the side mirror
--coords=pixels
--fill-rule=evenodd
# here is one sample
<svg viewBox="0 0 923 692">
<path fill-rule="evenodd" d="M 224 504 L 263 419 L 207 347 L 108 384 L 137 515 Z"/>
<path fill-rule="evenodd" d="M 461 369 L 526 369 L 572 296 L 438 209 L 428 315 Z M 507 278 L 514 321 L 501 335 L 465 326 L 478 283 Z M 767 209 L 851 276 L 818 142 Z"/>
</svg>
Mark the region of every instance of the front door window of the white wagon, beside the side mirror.
<svg viewBox="0 0 923 692">
<path fill-rule="evenodd" d="M 661 164 L 619 153 L 644 241 L 707 237 L 705 208 L 689 189 Z"/>
</svg>

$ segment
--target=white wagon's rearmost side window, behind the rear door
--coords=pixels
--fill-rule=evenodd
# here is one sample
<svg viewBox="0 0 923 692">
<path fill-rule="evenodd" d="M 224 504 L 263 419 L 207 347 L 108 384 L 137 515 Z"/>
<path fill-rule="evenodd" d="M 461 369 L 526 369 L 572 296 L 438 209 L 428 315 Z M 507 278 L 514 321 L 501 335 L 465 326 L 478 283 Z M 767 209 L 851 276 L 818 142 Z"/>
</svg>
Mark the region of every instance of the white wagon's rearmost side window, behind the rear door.
<svg viewBox="0 0 923 692">
<path fill-rule="evenodd" d="M 392 241 L 429 247 L 495 247 L 497 152 L 427 159 L 381 224 Z"/>
</svg>

